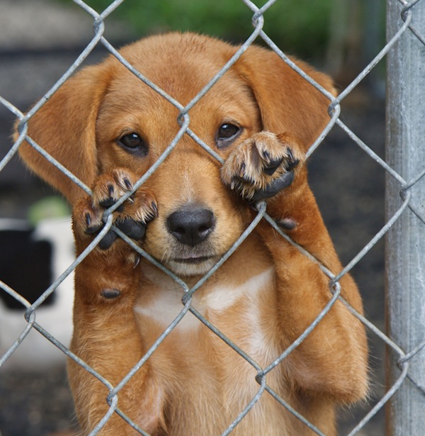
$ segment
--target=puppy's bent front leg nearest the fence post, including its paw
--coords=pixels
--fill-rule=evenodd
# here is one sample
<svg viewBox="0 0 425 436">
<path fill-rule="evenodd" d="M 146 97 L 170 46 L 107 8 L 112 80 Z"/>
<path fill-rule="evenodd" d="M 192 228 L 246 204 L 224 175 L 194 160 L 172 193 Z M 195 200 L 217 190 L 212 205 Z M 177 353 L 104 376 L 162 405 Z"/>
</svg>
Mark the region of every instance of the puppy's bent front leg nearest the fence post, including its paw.
<svg viewBox="0 0 425 436">
<path fill-rule="evenodd" d="M 302 147 L 292 136 L 261 132 L 229 155 L 222 167 L 222 180 L 248 201 L 266 199 L 267 212 L 285 232 L 337 274 L 341 263 L 307 184 L 304 160 Z M 256 231 L 276 265 L 278 323 L 283 347 L 287 347 L 331 299 L 329 277 L 263 221 Z M 341 295 L 361 312 L 361 298 L 351 276 L 345 275 L 340 283 Z M 339 300 L 285 361 L 297 389 L 307 396 L 319 394 L 338 403 L 365 396 L 365 329 Z"/>
</svg>

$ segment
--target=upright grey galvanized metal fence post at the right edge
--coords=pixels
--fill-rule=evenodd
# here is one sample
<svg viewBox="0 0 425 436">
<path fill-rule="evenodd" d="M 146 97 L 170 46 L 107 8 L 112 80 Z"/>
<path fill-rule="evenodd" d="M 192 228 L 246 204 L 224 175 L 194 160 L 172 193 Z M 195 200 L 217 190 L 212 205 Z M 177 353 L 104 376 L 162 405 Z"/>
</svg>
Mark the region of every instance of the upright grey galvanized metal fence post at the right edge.
<svg viewBox="0 0 425 436">
<path fill-rule="evenodd" d="M 401 12 L 400 1 L 387 0 L 387 39 L 402 26 Z M 425 1 L 419 0 L 409 13 L 412 25 L 425 36 Z M 386 111 L 386 160 L 404 180 L 412 181 L 425 169 L 425 46 L 409 29 L 387 57 Z M 401 187 L 387 176 L 387 218 L 400 206 Z M 425 216 L 424 178 L 409 194 L 409 204 Z M 387 234 L 385 262 L 387 333 L 408 353 L 425 337 L 425 225 L 409 209 Z M 387 352 L 388 386 L 400 374 L 398 359 L 395 352 Z M 425 434 L 425 350 L 409 359 L 408 375 L 387 406 L 387 435 Z"/>
</svg>

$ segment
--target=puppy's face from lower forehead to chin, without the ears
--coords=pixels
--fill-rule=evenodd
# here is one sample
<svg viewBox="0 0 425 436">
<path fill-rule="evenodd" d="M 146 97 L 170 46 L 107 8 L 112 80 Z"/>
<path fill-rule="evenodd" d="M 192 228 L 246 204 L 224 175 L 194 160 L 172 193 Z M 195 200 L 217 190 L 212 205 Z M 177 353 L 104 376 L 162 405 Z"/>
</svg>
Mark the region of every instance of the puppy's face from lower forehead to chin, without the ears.
<svg viewBox="0 0 425 436">
<path fill-rule="evenodd" d="M 133 59 L 146 77 L 155 75 L 154 59 Z M 146 63 L 145 63 L 146 62 Z M 174 77 L 155 83 L 181 104 L 188 104 L 212 77 L 200 65 L 181 62 Z M 188 89 L 188 76 L 195 86 Z M 100 172 L 125 167 L 142 176 L 179 132 L 179 111 L 118 65 L 96 122 Z M 227 74 L 190 111 L 190 128 L 223 158 L 261 130 L 258 106 L 247 86 Z M 147 180 L 159 216 L 147 226 L 145 249 L 181 275 L 203 274 L 242 233 L 244 213 L 237 197 L 220 181 L 220 163 L 188 135 Z"/>
</svg>

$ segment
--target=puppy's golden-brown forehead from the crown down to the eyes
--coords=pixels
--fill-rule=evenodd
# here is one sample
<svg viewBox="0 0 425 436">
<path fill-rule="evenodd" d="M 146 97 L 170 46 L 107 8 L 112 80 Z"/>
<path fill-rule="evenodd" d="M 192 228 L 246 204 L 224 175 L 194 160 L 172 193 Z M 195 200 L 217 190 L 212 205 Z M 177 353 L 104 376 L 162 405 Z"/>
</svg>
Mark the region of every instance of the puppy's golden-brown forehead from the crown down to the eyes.
<svg viewBox="0 0 425 436">
<path fill-rule="evenodd" d="M 144 77 L 186 106 L 235 50 L 212 38 L 171 34 L 140 40 L 125 47 L 121 54 Z M 117 136 L 124 130 L 135 130 L 149 140 L 167 142 L 179 131 L 179 108 L 118 60 L 109 62 L 113 74 L 98 111 L 98 131 Z M 221 123 L 251 125 L 258 118 L 258 106 L 246 79 L 235 68 L 212 86 L 189 115 L 191 128 L 207 137 Z"/>
</svg>

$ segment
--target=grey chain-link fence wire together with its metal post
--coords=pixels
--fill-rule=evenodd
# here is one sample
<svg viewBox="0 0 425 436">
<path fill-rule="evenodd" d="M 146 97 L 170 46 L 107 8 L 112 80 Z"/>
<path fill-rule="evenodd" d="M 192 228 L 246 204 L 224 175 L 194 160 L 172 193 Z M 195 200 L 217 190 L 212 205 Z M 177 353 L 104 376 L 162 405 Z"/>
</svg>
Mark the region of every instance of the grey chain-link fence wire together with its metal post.
<svg viewBox="0 0 425 436">
<path fill-rule="evenodd" d="M 191 108 L 198 104 L 198 101 L 202 96 L 215 86 L 217 81 L 225 74 L 225 72 L 232 67 L 234 62 L 242 55 L 249 45 L 254 43 L 255 40 L 263 40 L 268 47 L 278 54 L 282 62 L 286 62 L 290 67 L 300 74 L 307 82 L 319 89 L 329 99 L 329 123 L 327 128 L 324 129 L 322 134 L 311 145 L 307 155 L 312 155 L 317 147 L 322 143 L 324 138 L 329 133 L 334 125 L 341 128 L 346 135 L 358 146 L 364 153 L 370 157 L 370 159 L 377 162 L 382 167 L 387 175 L 387 219 L 385 225 L 380 229 L 378 233 L 368 242 L 358 254 L 348 262 L 342 271 L 334 275 L 323 265 L 319 265 L 329 279 L 329 289 L 332 291 L 332 298 L 317 316 L 314 322 L 305 330 L 305 332 L 288 347 L 285 352 L 272 362 L 268 367 L 259 367 L 254 359 L 247 355 L 243 350 L 239 349 L 237 345 L 232 343 L 229 338 L 218 330 L 215 325 L 212 325 L 201 313 L 191 305 L 192 296 L 202 286 L 205 281 L 214 272 L 220 268 L 220 265 L 232 255 L 234 250 L 239 247 L 242 241 L 249 235 L 249 233 L 255 228 L 259 220 L 265 218 L 268 223 L 280 233 L 281 237 L 288 240 L 295 245 L 295 242 L 291 241 L 285 233 L 283 233 L 273 219 L 266 213 L 266 204 L 260 203 L 258 206 L 258 215 L 253 220 L 249 228 L 239 237 L 234 246 L 226 253 L 225 256 L 220 259 L 219 262 L 213 267 L 208 274 L 205 274 L 198 283 L 190 287 L 181 278 L 170 272 L 162 264 L 159 264 L 157 260 L 153 259 L 147 252 L 135 245 L 125 234 L 120 232 L 118 228 L 114 228 L 115 232 L 120 237 L 128 242 L 134 250 L 136 250 L 142 257 L 145 257 L 157 267 L 162 269 L 166 274 L 169 274 L 172 279 L 181 286 L 183 291 L 182 308 L 176 319 L 164 330 L 162 335 L 157 338 L 157 341 L 150 348 L 150 350 L 140 359 L 135 367 L 120 381 L 117 386 L 112 386 L 101 374 L 96 373 L 93 368 L 89 367 L 79 357 L 74 355 L 67 347 L 62 345 L 49 331 L 45 330 L 42 325 L 37 322 L 37 310 L 40 304 L 52 294 L 57 286 L 74 271 L 79 263 L 81 263 L 86 255 L 96 247 L 102 237 L 112 227 L 112 216 L 109 215 L 106 220 L 106 225 L 94 239 L 93 242 L 87 247 L 87 249 L 62 272 L 59 278 L 45 290 L 45 292 L 34 303 L 26 301 L 23 296 L 18 294 L 14 289 L 11 289 L 7 283 L 0 283 L 2 292 L 5 292 L 16 298 L 17 301 L 26 307 L 25 319 L 27 322 L 26 328 L 21 332 L 19 337 L 16 337 L 13 345 L 8 351 L 0 356 L 0 369 L 4 365 L 8 357 L 20 347 L 21 342 L 25 340 L 28 332 L 35 329 L 38 330 L 43 336 L 47 338 L 53 345 L 60 349 L 67 357 L 73 359 L 77 364 L 84 367 L 86 371 L 97 377 L 105 386 L 109 389 L 108 404 L 110 406 L 108 413 L 98 423 L 96 428 L 91 432 L 91 435 L 96 435 L 102 427 L 111 418 L 111 415 L 118 413 L 124 420 L 127 420 L 129 425 L 132 425 L 140 434 L 147 435 L 142 429 L 137 427 L 135 423 L 132 423 L 130 418 L 119 408 L 118 396 L 123 386 L 127 384 L 132 376 L 140 370 L 140 368 L 147 362 L 147 359 L 157 350 L 157 347 L 164 341 L 167 335 L 178 325 L 186 313 L 191 312 L 195 315 L 200 322 L 204 323 L 210 330 L 215 332 L 222 341 L 224 341 L 229 347 L 239 353 L 254 369 L 256 369 L 256 381 L 259 384 L 258 392 L 251 398 L 249 404 L 246 405 L 244 410 L 241 410 L 239 415 L 234 416 L 233 423 L 225 430 L 223 435 L 231 434 L 234 427 L 244 419 L 246 413 L 255 406 L 255 403 L 259 401 L 259 398 L 263 395 L 271 395 L 276 398 L 283 407 L 290 410 L 291 413 L 297 416 L 307 427 L 315 432 L 317 435 L 323 435 L 323 433 L 309 423 L 297 410 L 291 408 L 288 403 L 285 403 L 283 398 L 280 398 L 278 394 L 268 386 L 266 382 L 267 374 L 278 365 L 285 357 L 288 356 L 302 340 L 310 334 L 310 332 L 318 325 L 322 318 L 327 314 L 330 308 L 333 306 L 336 299 L 341 299 L 339 280 L 344 274 L 347 274 L 363 257 L 368 253 L 372 247 L 374 247 L 378 241 L 387 236 L 387 301 L 388 308 L 388 330 L 382 332 L 378 329 L 370 320 L 357 313 L 353 308 L 348 306 L 349 310 L 361 320 L 366 326 L 370 335 L 376 335 L 380 340 L 384 341 L 388 350 L 388 362 L 389 368 L 387 374 L 387 389 L 382 395 L 382 398 L 375 403 L 375 406 L 370 408 L 367 413 L 359 418 L 355 427 L 348 433 L 349 435 L 365 434 L 367 428 L 365 426 L 368 422 L 387 405 L 387 422 L 389 425 L 389 433 L 393 435 L 420 435 L 423 434 L 425 418 L 425 354 L 423 349 L 425 347 L 424 342 L 424 326 L 425 326 L 425 273 L 424 269 L 424 253 L 425 253 L 425 211 L 424 211 L 424 186 L 421 184 L 425 174 L 425 152 L 424 147 L 421 150 L 421 140 L 425 138 L 425 109 L 423 101 L 425 97 L 425 75 L 423 72 L 425 61 L 425 0 L 403 1 L 403 0 L 387 0 L 387 43 L 382 47 L 382 50 L 378 52 L 375 58 L 366 65 L 363 71 L 358 74 L 358 77 L 351 82 L 337 97 L 331 96 L 329 92 L 323 89 L 319 84 L 314 82 L 312 78 L 307 76 L 299 67 L 293 64 L 290 59 L 283 53 L 279 47 L 273 43 L 271 38 L 263 31 L 264 18 L 263 13 L 273 8 L 273 4 L 276 0 L 268 1 L 261 8 L 257 7 L 253 2 L 249 0 L 242 0 L 247 8 L 252 11 L 252 24 L 253 31 L 245 43 L 235 53 L 232 59 L 222 66 L 220 72 L 212 77 L 210 82 L 197 94 L 193 100 L 186 106 L 183 106 L 178 101 L 171 99 L 162 89 L 150 82 L 149 79 L 143 77 L 140 72 L 130 65 L 130 63 L 123 58 L 120 53 L 106 40 L 103 36 L 105 30 L 105 19 L 121 4 L 124 0 L 112 1 L 110 6 L 102 13 L 96 13 L 91 7 L 81 0 L 74 0 L 81 9 L 84 9 L 94 21 L 94 37 L 90 41 L 89 45 L 81 52 L 77 60 L 72 64 L 67 72 L 52 86 L 45 96 L 38 101 L 29 113 L 24 115 L 18 108 L 13 106 L 10 102 L 0 96 L 0 102 L 4 105 L 8 111 L 11 111 L 16 118 L 20 121 L 19 138 L 13 144 L 10 150 L 8 150 L 6 156 L 0 162 L 0 171 L 11 160 L 13 155 L 16 155 L 18 148 L 23 140 L 26 140 L 32 145 L 35 150 L 38 150 L 46 160 L 55 164 L 64 174 L 67 174 L 70 181 L 69 183 L 76 183 L 81 186 L 88 194 L 91 194 L 89 187 L 85 186 L 74 174 L 71 174 L 66 168 L 59 162 L 53 159 L 45 150 L 35 143 L 27 135 L 27 122 L 28 120 L 45 104 L 45 101 L 57 91 L 57 89 L 69 79 L 69 77 L 81 66 L 89 53 L 94 50 L 97 45 L 103 45 L 111 52 L 120 62 L 125 65 L 140 81 L 145 82 L 152 87 L 162 98 L 168 100 L 176 108 L 179 109 L 179 123 L 181 128 L 174 140 L 169 144 L 164 154 L 159 157 L 157 162 L 134 186 L 134 189 L 139 188 L 147 180 L 147 178 L 162 164 L 169 153 L 179 144 L 179 140 L 183 135 L 189 135 L 193 140 L 198 142 L 200 147 L 207 150 L 217 160 L 222 162 L 220 156 L 218 156 L 213 150 L 206 145 L 203 140 L 198 138 L 195 132 L 191 130 L 191 123 L 189 121 L 189 112 Z M 277 0 L 279 1 L 279 0 Z M 407 48 L 408 47 L 408 48 Z M 387 157 L 383 160 L 375 152 L 368 147 L 353 131 L 348 128 L 346 124 L 341 120 L 340 113 L 341 101 L 346 99 L 348 94 L 356 88 L 363 79 L 370 73 L 384 58 L 387 56 L 387 113 L 390 114 L 387 121 Z M 416 72 L 415 74 L 410 74 Z M 413 105 L 413 106 L 412 106 Z M 412 108 L 411 108 L 412 107 Z M 412 115 L 413 114 L 413 115 Z M 409 121 L 409 115 L 414 117 L 413 121 Z M 407 155 L 407 160 L 404 160 L 404 155 Z M 118 203 L 111 207 L 108 212 L 111 212 L 117 208 L 120 203 L 123 203 L 125 199 L 130 196 L 131 193 L 124 196 Z M 309 257 L 312 262 L 317 262 L 312 255 L 298 246 L 305 256 Z M 409 304 L 406 301 L 409 301 Z M 345 302 L 344 302 L 345 303 Z M 402 307 L 402 308 L 401 308 Z M 404 308 L 404 309 L 403 309 Z M 407 326 L 407 327 L 406 327 Z M 406 330 L 407 329 L 407 330 Z M 390 404 L 390 406 L 388 406 Z M 383 432 L 383 430 L 382 430 Z"/>
</svg>

